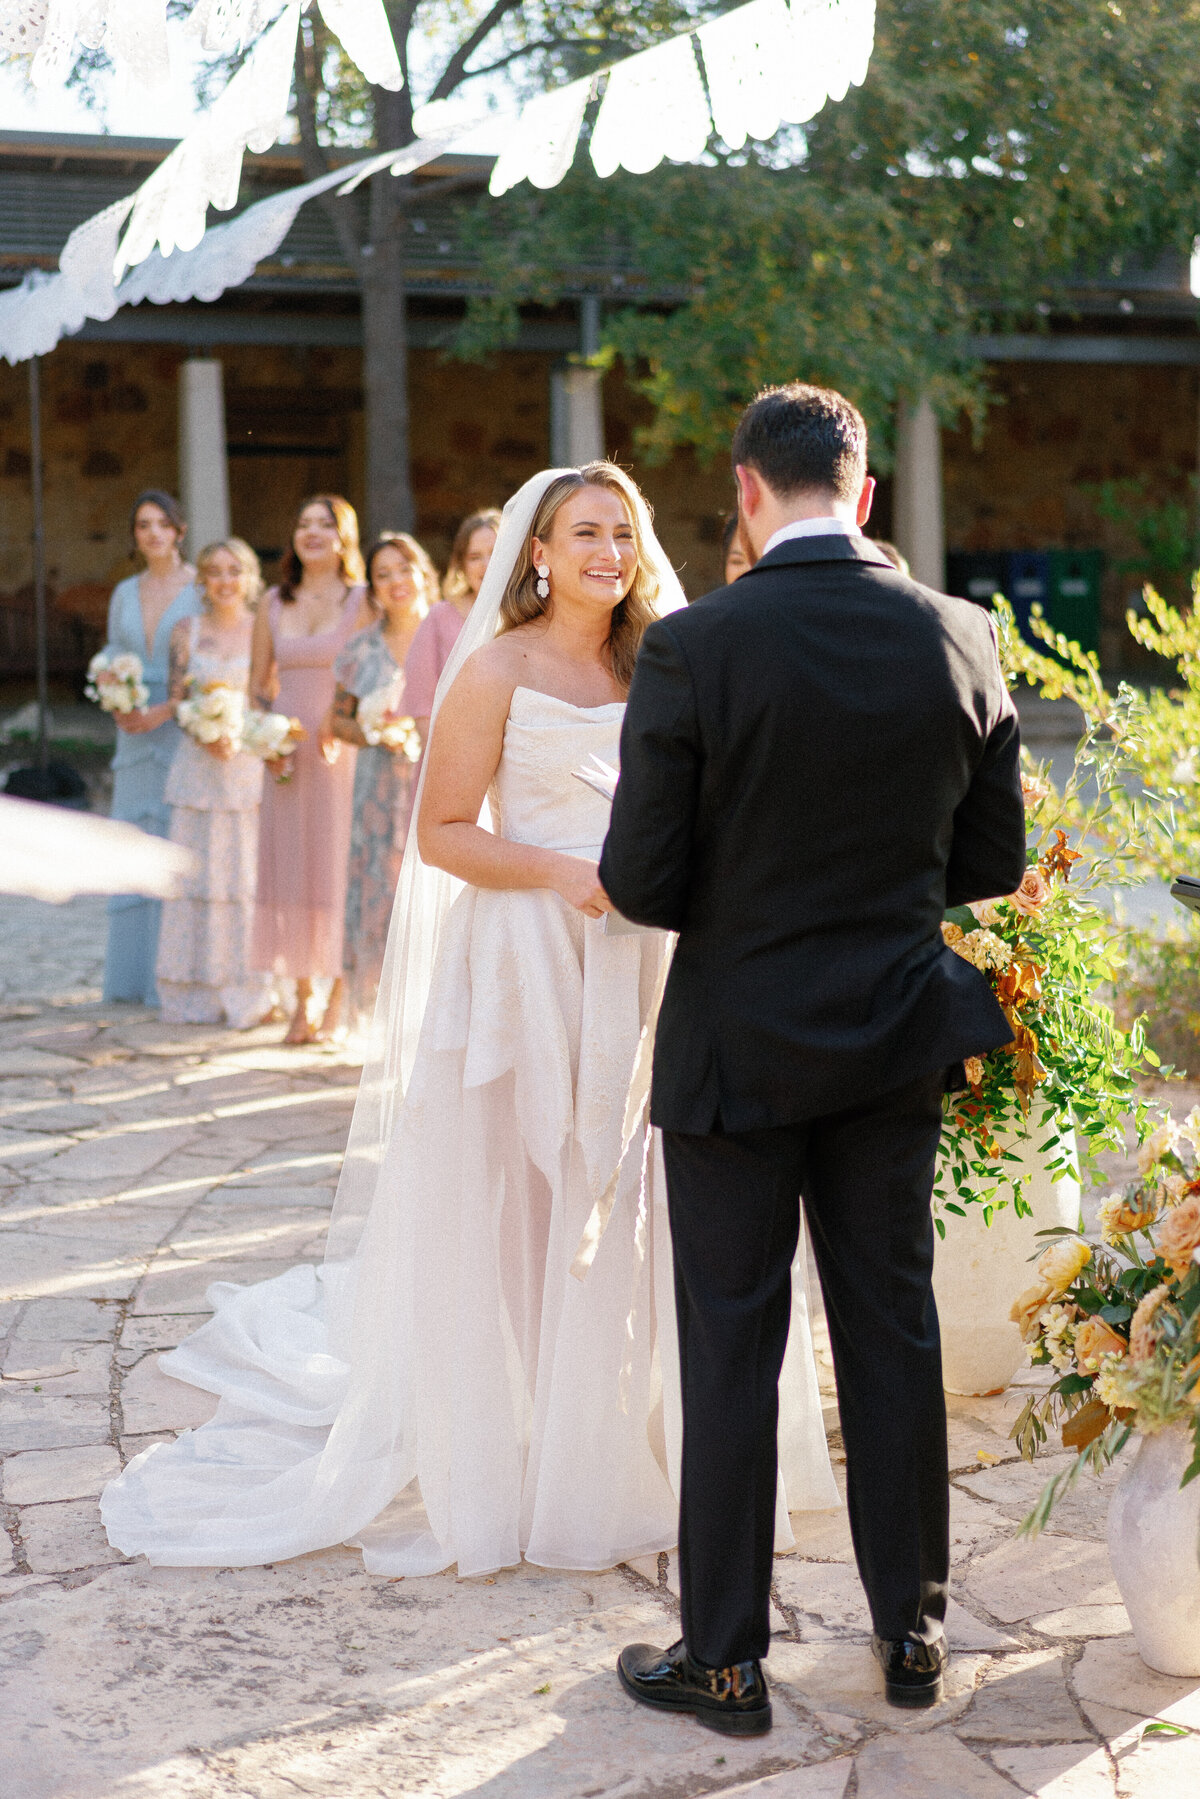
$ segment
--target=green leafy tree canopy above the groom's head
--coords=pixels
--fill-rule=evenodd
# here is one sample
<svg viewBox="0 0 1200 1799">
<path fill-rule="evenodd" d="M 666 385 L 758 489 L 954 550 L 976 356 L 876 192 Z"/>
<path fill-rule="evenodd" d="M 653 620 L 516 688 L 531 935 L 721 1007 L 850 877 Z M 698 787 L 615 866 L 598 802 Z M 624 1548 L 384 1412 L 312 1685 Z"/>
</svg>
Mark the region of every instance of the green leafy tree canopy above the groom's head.
<svg viewBox="0 0 1200 1799">
<path fill-rule="evenodd" d="M 711 167 L 488 201 L 488 299 L 462 354 L 552 302 L 581 264 L 610 288 L 603 356 L 653 403 L 640 448 L 723 453 L 765 381 L 844 387 L 887 466 L 894 405 L 979 421 L 975 333 L 1070 309 L 1070 286 L 1186 254 L 1200 176 L 1195 0 L 880 0 L 867 81 L 802 131 Z"/>
</svg>

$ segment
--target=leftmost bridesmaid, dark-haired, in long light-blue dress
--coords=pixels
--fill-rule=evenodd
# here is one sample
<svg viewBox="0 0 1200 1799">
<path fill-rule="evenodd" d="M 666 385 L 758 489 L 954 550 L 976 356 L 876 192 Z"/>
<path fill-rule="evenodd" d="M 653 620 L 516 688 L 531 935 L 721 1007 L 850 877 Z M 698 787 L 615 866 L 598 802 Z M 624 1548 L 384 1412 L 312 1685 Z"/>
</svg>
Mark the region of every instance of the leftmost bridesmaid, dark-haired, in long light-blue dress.
<svg viewBox="0 0 1200 1799">
<path fill-rule="evenodd" d="M 167 837 L 171 808 L 166 784 L 180 741 L 175 705 L 167 698 L 167 646 L 175 624 L 200 612 L 200 594 L 194 585 L 196 570 L 184 561 L 187 522 L 178 500 L 158 488 L 139 493 L 130 513 L 130 531 L 146 572 L 133 574 L 113 588 L 106 648 L 140 657 L 149 703 L 113 718 L 121 736 L 113 756 L 112 817 L 155 837 Z M 160 900 L 115 894 L 108 901 L 106 1000 L 158 1004 L 155 957 L 160 916 Z"/>
</svg>

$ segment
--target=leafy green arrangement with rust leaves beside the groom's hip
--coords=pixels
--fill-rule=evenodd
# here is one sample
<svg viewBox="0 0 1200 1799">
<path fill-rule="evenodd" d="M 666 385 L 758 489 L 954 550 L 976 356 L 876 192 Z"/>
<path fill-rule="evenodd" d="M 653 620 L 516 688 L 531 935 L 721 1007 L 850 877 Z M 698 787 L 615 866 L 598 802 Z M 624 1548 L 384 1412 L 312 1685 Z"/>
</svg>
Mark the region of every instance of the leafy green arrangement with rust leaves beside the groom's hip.
<svg viewBox="0 0 1200 1799">
<path fill-rule="evenodd" d="M 999 601 L 1006 669 L 1016 630 Z M 1018 655 L 1018 651 L 1016 651 Z M 1144 846 L 1160 829 L 1162 808 L 1126 792 L 1130 745 L 1141 730 L 1142 700 L 1123 689 L 1103 718 L 1088 720 L 1072 774 L 1058 793 L 1027 763 L 1029 865 L 1007 898 L 952 908 L 943 923 L 950 948 L 991 982 L 1013 1036 L 966 1061 L 966 1088 L 946 1099 L 936 1223 L 945 1214 L 999 1205 L 1029 1211 L 1022 1157 L 1027 1135 L 1051 1173 L 1096 1171 L 1105 1150 L 1123 1150 L 1132 1126 L 1141 1142 L 1153 1126 L 1139 1078 L 1159 1067 L 1141 1022 L 1117 1024 L 1112 995 L 1126 944 L 1114 928 L 1110 896 L 1144 880 Z M 1123 829 L 1112 828 L 1119 811 Z M 1074 1146 L 1072 1146 L 1074 1130 Z"/>
</svg>

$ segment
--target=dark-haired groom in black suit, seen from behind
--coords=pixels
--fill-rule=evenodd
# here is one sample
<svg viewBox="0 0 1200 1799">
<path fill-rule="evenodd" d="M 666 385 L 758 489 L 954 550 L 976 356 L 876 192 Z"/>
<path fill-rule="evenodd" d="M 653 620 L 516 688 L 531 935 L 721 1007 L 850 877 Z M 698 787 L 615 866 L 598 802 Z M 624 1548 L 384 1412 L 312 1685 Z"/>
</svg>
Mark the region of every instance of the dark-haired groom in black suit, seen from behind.
<svg viewBox="0 0 1200 1799">
<path fill-rule="evenodd" d="M 930 1191 L 948 1072 L 1011 1040 L 941 939 L 1025 873 L 1020 738 L 984 612 L 862 536 L 867 432 L 768 389 L 732 461 L 759 558 L 653 624 L 599 865 L 678 932 L 655 1045 L 684 1387 L 684 1639 L 628 1693 L 770 1729 L 777 1385 L 799 1198 L 833 1342 L 849 1524 L 887 1696 L 932 1705 L 948 1479 Z"/>
</svg>

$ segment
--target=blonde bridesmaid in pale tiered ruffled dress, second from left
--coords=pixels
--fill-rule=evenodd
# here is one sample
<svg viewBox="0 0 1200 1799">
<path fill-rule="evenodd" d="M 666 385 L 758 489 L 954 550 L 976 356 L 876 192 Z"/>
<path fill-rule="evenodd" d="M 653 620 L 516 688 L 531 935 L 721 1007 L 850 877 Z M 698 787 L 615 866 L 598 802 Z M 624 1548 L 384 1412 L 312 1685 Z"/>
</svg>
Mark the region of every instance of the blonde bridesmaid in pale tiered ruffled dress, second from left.
<svg viewBox="0 0 1200 1799">
<path fill-rule="evenodd" d="M 196 558 L 203 617 L 171 631 L 171 700 L 189 685 L 250 684 L 252 608 L 263 588 L 259 559 L 241 538 L 209 543 Z M 196 856 L 196 873 L 162 908 L 158 995 L 164 1024 L 221 1024 L 236 1031 L 270 1009 L 263 975 L 254 975 L 250 932 L 259 847 L 263 763 L 228 738 L 196 743 L 180 734 L 167 775 L 171 840 Z"/>
</svg>

